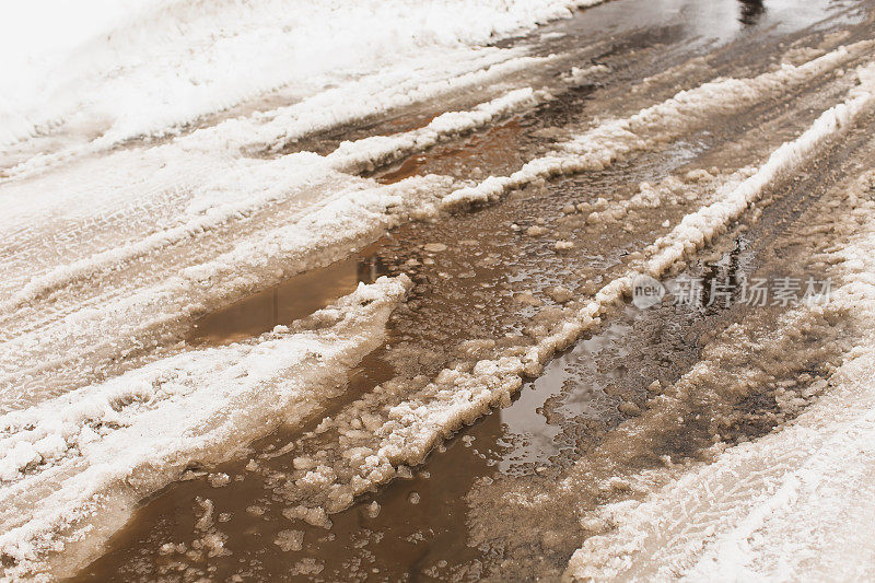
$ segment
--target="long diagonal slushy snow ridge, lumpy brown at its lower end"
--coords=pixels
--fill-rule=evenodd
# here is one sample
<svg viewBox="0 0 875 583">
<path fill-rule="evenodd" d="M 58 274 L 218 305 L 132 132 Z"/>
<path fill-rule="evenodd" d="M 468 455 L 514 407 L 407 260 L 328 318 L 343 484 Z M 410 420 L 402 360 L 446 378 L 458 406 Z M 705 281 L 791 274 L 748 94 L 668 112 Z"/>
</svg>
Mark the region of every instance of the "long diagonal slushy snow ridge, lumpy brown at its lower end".
<svg viewBox="0 0 875 583">
<path fill-rule="evenodd" d="M 861 84 L 848 100 L 828 110 L 797 139 L 782 144 L 756 171 L 727 183 L 715 201 L 685 217 L 668 234 L 645 249 L 630 271 L 605 285 L 590 301 L 572 302 L 530 348 L 506 351 L 471 368 L 445 369 L 420 388 L 388 382 L 353 403 L 293 446 L 318 452 L 296 459 L 296 471 L 282 492 L 301 512 L 307 508 L 337 512 L 376 485 L 409 471 L 441 440 L 492 407 L 506 406 L 557 351 L 598 323 L 599 316 L 630 294 L 639 272 L 662 276 L 672 265 L 701 249 L 736 220 L 778 179 L 800 167 L 829 140 L 841 137 L 854 120 L 875 107 L 875 67 L 859 70 Z M 409 395 L 398 401 L 400 395 Z M 292 445 L 290 445 L 291 447 Z"/>
</svg>

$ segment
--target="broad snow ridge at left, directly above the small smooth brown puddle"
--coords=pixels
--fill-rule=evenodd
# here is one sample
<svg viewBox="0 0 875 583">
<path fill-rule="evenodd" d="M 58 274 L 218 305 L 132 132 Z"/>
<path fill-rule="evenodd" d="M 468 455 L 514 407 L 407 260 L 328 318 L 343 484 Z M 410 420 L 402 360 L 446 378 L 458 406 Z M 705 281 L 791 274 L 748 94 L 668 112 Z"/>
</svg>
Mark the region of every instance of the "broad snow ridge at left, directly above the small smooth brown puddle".
<svg viewBox="0 0 875 583">
<path fill-rule="evenodd" d="M 50 386 L 34 388 L 25 383 L 42 370 L 102 351 L 124 355 L 143 346 L 156 346 L 158 335 L 166 335 L 167 327 L 184 329 L 186 319 L 206 305 L 218 305 L 247 290 L 268 287 L 302 267 L 346 255 L 349 247 L 395 224 L 446 183 L 442 177 L 427 176 L 388 186 L 347 188 L 305 209 L 293 222 L 244 238 L 226 253 L 185 267 L 154 284 L 106 299 L 100 310 L 80 306 L 49 325 L 2 342 L 0 411 L 45 397 Z M 247 266 L 243 273 L 241 266 Z M 34 358 L 35 353 L 51 355 L 40 359 Z M 38 395 L 31 394 L 35 389 Z"/>
</svg>

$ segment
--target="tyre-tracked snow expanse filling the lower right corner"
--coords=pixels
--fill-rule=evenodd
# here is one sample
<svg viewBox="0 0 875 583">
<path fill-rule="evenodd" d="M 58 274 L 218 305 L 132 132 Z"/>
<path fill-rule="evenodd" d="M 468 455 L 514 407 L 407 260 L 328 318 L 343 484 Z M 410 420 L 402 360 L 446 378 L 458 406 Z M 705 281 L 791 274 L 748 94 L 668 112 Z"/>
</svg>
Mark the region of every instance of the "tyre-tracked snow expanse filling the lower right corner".
<svg viewBox="0 0 875 583">
<path fill-rule="evenodd" d="M 798 418 L 720 454 L 642 502 L 603 509 L 615 529 L 572 557 L 574 580 L 863 581 L 875 576 L 875 230 L 873 175 L 849 244 L 827 254 L 831 305 L 862 331 Z"/>
</svg>

